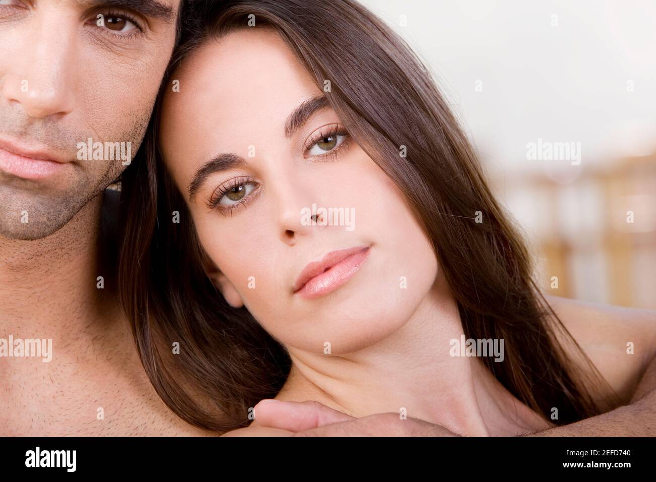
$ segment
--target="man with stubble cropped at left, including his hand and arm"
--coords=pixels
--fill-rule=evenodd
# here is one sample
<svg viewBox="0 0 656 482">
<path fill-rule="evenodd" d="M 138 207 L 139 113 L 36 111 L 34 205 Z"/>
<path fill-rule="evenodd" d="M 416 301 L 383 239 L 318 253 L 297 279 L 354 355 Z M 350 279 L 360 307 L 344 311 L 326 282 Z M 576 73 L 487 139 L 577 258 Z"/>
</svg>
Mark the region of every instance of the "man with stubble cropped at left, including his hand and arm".
<svg viewBox="0 0 656 482">
<path fill-rule="evenodd" d="M 101 223 L 185 20 L 180 0 L 0 0 L 0 435 L 213 435 L 150 386 Z M 623 435 L 627 408 L 626 423 L 653 429 L 649 370 L 633 405 L 549 432 Z M 262 425 L 303 435 L 450 434 L 396 414 L 266 405 Z"/>
</svg>

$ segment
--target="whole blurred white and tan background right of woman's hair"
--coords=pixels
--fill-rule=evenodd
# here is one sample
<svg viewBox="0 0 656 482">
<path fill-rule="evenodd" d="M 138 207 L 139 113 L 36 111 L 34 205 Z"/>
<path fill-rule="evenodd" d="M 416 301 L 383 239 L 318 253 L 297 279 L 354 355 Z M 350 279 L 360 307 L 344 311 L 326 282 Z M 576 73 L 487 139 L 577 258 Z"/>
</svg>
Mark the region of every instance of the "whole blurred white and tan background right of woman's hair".
<svg viewBox="0 0 656 482">
<path fill-rule="evenodd" d="M 359 1 L 434 73 L 544 292 L 656 309 L 656 2 Z"/>
</svg>

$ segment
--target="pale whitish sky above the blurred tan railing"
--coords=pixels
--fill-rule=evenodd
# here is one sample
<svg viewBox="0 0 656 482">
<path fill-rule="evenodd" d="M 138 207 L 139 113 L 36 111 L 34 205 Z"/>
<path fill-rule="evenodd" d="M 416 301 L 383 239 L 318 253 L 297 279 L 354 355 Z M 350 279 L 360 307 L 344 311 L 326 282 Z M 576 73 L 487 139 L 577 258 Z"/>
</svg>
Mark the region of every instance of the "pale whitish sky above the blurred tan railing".
<svg viewBox="0 0 656 482">
<path fill-rule="evenodd" d="M 491 173 L 554 169 L 526 159 L 538 138 L 581 142 L 582 167 L 656 151 L 656 1 L 361 3 L 428 64 Z"/>
</svg>

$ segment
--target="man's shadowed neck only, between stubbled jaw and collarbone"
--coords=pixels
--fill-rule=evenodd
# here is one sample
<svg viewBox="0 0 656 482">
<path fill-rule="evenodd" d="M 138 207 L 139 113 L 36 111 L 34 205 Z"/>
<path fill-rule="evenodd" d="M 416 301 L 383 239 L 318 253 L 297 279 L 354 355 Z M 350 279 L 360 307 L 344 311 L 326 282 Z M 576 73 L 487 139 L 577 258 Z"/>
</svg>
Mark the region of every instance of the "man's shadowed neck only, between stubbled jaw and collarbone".
<svg viewBox="0 0 656 482">
<path fill-rule="evenodd" d="M 106 308 L 97 278 L 103 195 L 65 226 L 35 241 L 0 237 L 0 327 L 5 334 L 60 338 Z M 109 276 L 108 276 L 109 275 Z M 76 323 L 83 327 L 75 326 Z"/>
</svg>

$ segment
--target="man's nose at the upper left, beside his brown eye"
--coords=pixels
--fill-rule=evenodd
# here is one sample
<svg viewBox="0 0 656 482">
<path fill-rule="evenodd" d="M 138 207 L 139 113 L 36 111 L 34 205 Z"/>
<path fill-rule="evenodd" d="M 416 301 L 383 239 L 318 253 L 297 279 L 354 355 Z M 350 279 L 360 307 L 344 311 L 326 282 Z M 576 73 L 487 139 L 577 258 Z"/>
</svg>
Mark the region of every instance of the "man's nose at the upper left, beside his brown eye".
<svg viewBox="0 0 656 482">
<path fill-rule="evenodd" d="M 75 104 L 75 31 L 52 20 L 33 22 L 29 33 L 24 32 L 28 35 L 21 35 L 18 46 L 5 53 L 11 58 L 2 94 L 37 119 L 65 115 Z"/>
</svg>

